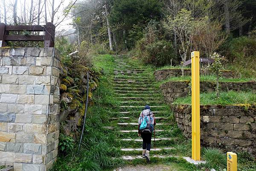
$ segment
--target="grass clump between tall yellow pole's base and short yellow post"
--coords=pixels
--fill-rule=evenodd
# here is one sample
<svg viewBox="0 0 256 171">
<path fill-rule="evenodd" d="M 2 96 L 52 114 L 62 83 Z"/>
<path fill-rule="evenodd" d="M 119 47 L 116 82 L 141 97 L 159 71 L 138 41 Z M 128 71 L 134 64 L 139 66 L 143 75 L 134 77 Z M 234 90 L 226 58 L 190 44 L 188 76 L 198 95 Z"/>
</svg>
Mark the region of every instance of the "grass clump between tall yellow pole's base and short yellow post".
<svg viewBox="0 0 256 171">
<path fill-rule="evenodd" d="M 216 148 L 206 148 L 202 151 L 202 158 L 207 162 L 203 166 L 207 169 L 214 168 L 216 171 L 222 171 L 227 167 L 226 155 Z"/>
</svg>

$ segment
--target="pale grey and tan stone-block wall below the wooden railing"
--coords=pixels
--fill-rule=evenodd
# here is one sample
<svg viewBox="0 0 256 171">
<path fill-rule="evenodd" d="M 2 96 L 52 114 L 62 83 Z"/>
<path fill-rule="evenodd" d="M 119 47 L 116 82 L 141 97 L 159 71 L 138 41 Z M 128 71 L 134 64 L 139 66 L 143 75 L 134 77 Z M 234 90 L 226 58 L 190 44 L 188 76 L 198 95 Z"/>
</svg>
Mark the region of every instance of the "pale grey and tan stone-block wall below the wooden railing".
<svg viewBox="0 0 256 171">
<path fill-rule="evenodd" d="M 0 165 L 47 171 L 56 160 L 60 68 L 54 48 L 0 48 Z"/>
</svg>

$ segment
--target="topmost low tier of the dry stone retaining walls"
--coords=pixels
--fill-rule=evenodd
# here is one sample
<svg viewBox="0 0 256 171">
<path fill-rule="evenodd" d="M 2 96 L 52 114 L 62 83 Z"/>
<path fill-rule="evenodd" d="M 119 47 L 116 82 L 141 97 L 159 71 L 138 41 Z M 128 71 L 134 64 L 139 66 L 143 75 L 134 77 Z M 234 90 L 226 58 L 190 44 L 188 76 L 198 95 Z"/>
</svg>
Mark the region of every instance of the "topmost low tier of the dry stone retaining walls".
<svg viewBox="0 0 256 171">
<path fill-rule="evenodd" d="M 184 69 L 184 75 L 190 76 L 191 69 Z M 181 69 L 177 69 L 177 68 L 157 70 L 154 72 L 154 78 L 157 81 L 165 80 L 170 77 L 180 77 L 180 76 L 182 76 Z M 223 77 L 233 78 L 234 73 L 232 71 L 223 71 Z"/>
</svg>

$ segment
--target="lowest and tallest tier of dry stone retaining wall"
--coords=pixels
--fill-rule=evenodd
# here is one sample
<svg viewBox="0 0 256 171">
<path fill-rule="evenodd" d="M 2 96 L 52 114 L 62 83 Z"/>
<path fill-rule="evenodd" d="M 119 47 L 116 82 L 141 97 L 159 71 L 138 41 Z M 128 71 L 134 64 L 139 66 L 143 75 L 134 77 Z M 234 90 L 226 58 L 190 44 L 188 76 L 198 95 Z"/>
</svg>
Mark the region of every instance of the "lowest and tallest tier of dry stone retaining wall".
<svg viewBox="0 0 256 171">
<path fill-rule="evenodd" d="M 191 138 L 191 106 L 172 105 L 178 127 Z M 256 156 L 256 106 L 201 105 L 201 142 Z"/>
</svg>

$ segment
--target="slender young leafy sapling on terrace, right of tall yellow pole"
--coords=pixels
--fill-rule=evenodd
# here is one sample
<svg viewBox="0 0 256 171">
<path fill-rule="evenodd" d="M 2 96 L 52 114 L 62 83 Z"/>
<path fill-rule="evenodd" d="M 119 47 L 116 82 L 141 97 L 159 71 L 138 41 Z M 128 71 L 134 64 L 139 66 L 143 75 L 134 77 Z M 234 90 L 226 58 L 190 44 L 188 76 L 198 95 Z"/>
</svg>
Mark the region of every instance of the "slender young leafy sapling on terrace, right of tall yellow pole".
<svg viewBox="0 0 256 171">
<path fill-rule="evenodd" d="M 210 55 L 210 57 L 212 59 L 214 59 L 214 62 L 212 64 L 209 64 L 209 70 L 216 75 L 216 96 L 217 98 L 219 98 L 219 78 L 222 75 L 221 70 L 224 69 L 223 65 L 221 64 L 221 60 L 223 59 L 223 57 L 221 55 L 219 55 L 218 53 L 214 53 L 213 55 Z"/>
</svg>

